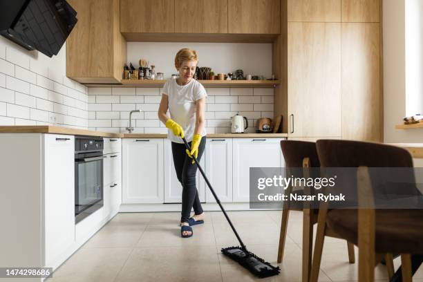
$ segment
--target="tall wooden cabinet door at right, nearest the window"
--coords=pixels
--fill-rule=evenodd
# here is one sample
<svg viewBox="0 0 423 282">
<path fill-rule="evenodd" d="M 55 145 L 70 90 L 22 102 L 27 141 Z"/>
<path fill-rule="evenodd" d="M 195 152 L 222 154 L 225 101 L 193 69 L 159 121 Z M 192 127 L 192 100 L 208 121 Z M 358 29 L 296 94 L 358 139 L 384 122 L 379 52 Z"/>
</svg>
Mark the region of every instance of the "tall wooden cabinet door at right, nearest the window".
<svg viewBox="0 0 423 282">
<path fill-rule="evenodd" d="M 342 23 L 342 138 L 382 141 L 380 23 Z"/>
</svg>

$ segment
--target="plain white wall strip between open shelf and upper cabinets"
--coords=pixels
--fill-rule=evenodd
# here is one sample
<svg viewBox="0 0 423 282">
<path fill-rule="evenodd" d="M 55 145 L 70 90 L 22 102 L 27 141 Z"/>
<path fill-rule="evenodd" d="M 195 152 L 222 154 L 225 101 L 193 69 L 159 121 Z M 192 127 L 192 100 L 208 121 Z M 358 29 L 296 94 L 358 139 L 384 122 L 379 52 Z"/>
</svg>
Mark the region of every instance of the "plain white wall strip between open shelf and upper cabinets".
<svg viewBox="0 0 423 282">
<path fill-rule="evenodd" d="M 242 69 L 244 75 L 272 77 L 272 44 L 252 43 L 181 43 L 128 42 L 127 59 L 138 67 L 140 59 L 149 60 L 156 72 L 170 77 L 177 73 L 175 55 L 181 48 L 196 50 L 198 66 L 211 67 L 214 73 L 229 73 Z"/>
</svg>

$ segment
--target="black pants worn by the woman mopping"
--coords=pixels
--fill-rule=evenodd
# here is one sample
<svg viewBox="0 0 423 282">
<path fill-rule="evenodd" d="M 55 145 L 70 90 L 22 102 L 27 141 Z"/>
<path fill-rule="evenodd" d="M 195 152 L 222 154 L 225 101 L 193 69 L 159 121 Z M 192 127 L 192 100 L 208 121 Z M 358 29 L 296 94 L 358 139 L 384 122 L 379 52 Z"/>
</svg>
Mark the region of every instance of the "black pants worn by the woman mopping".
<svg viewBox="0 0 423 282">
<path fill-rule="evenodd" d="M 200 146 L 198 146 L 198 162 L 200 162 L 201 156 L 203 156 L 205 142 L 206 138 L 203 136 Z M 191 142 L 188 144 L 191 146 Z M 194 208 L 195 214 L 203 214 L 203 208 L 201 207 L 196 187 L 197 164 L 191 164 L 192 159 L 189 158 L 185 149 L 185 144 L 172 142 L 173 164 L 175 164 L 176 176 L 180 184 L 182 184 L 181 223 L 188 222 L 191 208 Z"/>
</svg>

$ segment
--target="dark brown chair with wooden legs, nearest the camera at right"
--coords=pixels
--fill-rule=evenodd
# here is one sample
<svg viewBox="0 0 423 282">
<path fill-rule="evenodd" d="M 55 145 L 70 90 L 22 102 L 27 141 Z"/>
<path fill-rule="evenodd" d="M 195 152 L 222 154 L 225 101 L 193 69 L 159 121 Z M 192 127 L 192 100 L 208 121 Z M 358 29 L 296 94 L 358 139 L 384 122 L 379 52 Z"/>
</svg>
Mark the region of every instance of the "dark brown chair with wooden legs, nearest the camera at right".
<svg viewBox="0 0 423 282">
<path fill-rule="evenodd" d="M 359 247 L 359 281 L 374 280 L 374 267 L 385 257 L 393 276 L 392 254 L 402 254 L 403 281 L 411 281 L 410 254 L 423 254 L 422 209 L 372 209 L 373 191 L 367 167 L 413 167 L 410 153 L 385 144 L 348 140 L 318 140 L 322 167 L 358 167 L 359 209 L 319 209 L 310 282 L 317 281 L 328 230 Z M 414 178 L 414 176 L 412 176 Z M 420 194 L 417 189 L 415 195 Z M 366 204 L 366 205 L 363 205 Z"/>
</svg>

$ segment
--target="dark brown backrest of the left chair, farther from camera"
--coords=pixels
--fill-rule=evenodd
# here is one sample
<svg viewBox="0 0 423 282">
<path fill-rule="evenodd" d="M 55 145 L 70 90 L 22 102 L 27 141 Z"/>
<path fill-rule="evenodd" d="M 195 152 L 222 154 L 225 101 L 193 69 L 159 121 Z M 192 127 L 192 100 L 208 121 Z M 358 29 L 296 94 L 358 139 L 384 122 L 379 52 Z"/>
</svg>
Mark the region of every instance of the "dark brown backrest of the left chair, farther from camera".
<svg viewBox="0 0 423 282">
<path fill-rule="evenodd" d="M 311 167 L 320 167 L 316 143 L 306 141 L 282 140 L 281 149 L 285 167 L 303 167 L 303 159 L 310 159 Z"/>
</svg>

